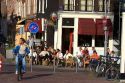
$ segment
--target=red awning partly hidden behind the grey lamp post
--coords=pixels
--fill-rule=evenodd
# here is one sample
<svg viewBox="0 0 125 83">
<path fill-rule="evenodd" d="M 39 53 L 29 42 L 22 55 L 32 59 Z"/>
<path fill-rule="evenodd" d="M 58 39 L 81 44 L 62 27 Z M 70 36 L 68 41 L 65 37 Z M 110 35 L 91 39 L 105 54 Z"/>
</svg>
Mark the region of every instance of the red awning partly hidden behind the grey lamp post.
<svg viewBox="0 0 125 83">
<path fill-rule="evenodd" d="M 109 35 L 111 36 L 113 30 L 112 30 L 112 22 L 110 19 L 107 19 L 106 26 L 108 27 Z M 96 19 L 96 35 L 104 35 L 103 19 Z"/>
</svg>

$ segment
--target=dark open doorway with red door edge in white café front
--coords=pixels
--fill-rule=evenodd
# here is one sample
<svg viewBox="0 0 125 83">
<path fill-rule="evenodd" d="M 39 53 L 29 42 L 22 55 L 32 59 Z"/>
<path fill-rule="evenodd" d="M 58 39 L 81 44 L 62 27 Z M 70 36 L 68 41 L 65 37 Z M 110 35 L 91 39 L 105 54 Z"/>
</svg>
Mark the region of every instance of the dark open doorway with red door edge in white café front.
<svg viewBox="0 0 125 83">
<path fill-rule="evenodd" d="M 66 50 L 73 53 L 73 28 L 62 28 L 62 53 Z"/>
</svg>

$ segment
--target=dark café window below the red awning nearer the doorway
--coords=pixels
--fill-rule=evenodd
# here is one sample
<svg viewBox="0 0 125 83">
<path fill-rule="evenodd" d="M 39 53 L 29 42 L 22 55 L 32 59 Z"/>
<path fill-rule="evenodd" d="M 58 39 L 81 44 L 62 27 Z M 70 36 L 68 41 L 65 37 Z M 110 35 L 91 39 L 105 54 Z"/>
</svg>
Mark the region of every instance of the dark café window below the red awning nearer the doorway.
<svg viewBox="0 0 125 83">
<path fill-rule="evenodd" d="M 92 46 L 92 35 L 78 35 L 78 46 Z"/>
</svg>

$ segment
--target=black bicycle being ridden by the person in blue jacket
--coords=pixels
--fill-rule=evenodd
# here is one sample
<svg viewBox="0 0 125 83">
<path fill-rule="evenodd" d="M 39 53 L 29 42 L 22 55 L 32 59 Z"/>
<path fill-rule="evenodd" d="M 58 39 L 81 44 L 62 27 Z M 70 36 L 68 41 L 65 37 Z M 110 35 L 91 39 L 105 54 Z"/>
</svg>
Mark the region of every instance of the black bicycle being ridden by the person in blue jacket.
<svg viewBox="0 0 125 83">
<path fill-rule="evenodd" d="M 17 80 L 21 81 L 22 77 L 23 77 L 23 72 L 22 72 L 22 59 L 24 58 L 24 56 L 18 56 L 18 74 L 17 74 Z"/>
</svg>

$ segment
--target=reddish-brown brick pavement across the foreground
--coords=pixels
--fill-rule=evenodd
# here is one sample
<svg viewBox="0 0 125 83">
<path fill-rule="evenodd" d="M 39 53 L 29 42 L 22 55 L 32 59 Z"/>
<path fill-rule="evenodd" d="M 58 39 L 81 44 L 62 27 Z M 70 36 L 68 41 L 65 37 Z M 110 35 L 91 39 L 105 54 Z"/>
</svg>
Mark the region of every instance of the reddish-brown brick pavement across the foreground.
<svg viewBox="0 0 125 83">
<path fill-rule="evenodd" d="M 7 66 L 6 72 L 0 73 L 0 83 L 117 83 L 97 78 L 94 73 L 87 71 L 69 71 L 60 69 L 53 73 L 52 69 L 35 67 L 33 72 L 27 71 L 23 80 L 18 82 L 14 74 L 14 65 Z M 29 70 L 29 69 L 28 69 Z"/>
</svg>

